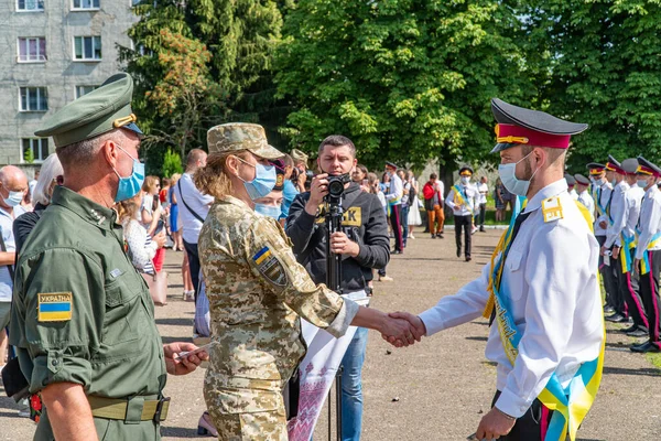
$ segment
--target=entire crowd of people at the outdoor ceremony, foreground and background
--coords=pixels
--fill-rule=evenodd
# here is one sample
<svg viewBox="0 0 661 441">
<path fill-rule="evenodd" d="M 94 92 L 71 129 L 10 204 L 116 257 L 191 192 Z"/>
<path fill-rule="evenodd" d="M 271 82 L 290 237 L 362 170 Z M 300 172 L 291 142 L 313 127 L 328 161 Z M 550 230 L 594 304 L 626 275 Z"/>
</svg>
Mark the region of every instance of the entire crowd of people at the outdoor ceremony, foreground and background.
<svg viewBox="0 0 661 441">
<path fill-rule="evenodd" d="M 239 122 L 210 128 L 208 153 L 191 150 L 182 175 L 145 176 L 131 93 L 131 77 L 119 74 L 51 117 L 37 135 L 53 137 L 56 153 L 34 183 L 15 166 L 0 170 L 0 329 L 10 329 L 13 374 L 37 398 L 35 439 L 158 439 L 166 374 L 209 359 L 199 433 L 286 440 L 288 421 L 296 430 L 292 385 L 315 368 L 303 365 L 315 355 L 308 348 L 334 338 L 343 345 L 333 366 L 343 366 L 340 437 L 359 440 L 367 330 L 402 347 L 479 316 L 489 320 L 486 356 L 498 375 L 476 438 L 564 439 L 599 386 L 604 311 L 648 337 L 632 351 L 661 351 L 661 169 L 609 158 L 588 165 L 589 180 L 564 176 L 570 137 L 586 125 L 494 99 L 497 220 L 519 209 L 517 198 L 527 204 L 478 279 L 418 315 L 387 314 L 368 308 L 375 278 L 392 280 L 391 255 L 404 254 L 421 214 L 442 239 L 447 207 L 457 258 L 472 260 L 486 178 L 474 183 L 465 165 L 447 191 L 434 173 L 421 187 L 386 162 L 379 179 L 340 135 L 321 142 L 311 171 L 305 153 L 282 153 L 262 127 Z M 327 219 L 338 200 L 335 225 Z M 210 342 L 204 351 L 163 345 L 158 334 L 149 280 L 162 273 L 166 246 L 183 251 L 183 297 L 196 303 L 192 332 Z M 325 333 L 305 340 L 307 326 Z"/>
</svg>

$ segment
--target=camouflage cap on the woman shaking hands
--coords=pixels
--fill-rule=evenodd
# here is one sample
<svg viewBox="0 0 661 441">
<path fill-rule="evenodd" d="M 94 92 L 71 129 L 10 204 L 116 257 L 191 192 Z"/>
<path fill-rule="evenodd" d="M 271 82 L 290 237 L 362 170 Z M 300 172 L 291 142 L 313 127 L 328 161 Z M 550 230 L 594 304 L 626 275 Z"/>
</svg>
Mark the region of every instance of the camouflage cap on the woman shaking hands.
<svg viewBox="0 0 661 441">
<path fill-rule="evenodd" d="M 229 122 L 212 127 L 207 131 L 207 146 L 209 154 L 250 150 L 266 159 L 283 155 L 278 149 L 269 146 L 263 127 L 248 122 Z"/>
</svg>

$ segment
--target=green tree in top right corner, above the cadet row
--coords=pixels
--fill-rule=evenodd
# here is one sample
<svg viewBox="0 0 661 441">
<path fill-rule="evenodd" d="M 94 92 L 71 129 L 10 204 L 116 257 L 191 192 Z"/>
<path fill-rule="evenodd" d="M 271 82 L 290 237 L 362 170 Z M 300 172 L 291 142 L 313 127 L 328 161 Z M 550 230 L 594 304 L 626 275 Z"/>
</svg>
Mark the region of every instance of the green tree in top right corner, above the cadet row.
<svg viewBox="0 0 661 441">
<path fill-rule="evenodd" d="M 524 1 L 529 65 L 546 71 L 541 107 L 589 123 L 573 138 L 570 168 L 607 154 L 661 159 L 661 6 L 658 1 Z"/>
</svg>

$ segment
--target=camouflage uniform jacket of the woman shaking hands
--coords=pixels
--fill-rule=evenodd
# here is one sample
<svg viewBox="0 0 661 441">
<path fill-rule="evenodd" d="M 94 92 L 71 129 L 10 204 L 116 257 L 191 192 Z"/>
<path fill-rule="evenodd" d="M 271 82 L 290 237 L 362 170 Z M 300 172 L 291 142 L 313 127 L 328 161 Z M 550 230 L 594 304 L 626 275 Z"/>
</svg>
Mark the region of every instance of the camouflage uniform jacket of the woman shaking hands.
<svg viewBox="0 0 661 441">
<path fill-rule="evenodd" d="M 282 227 L 235 197 L 213 205 L 198 249 L 212 335 L 219 343 L 212 349 L 205 389 L 216 390 L 212 401 L 221 412 L 269 410 L 272 406 L 262 406 L 253 394 L 280 394 L 305 355 L 299 316 L 340 336 L 358 306 L 315 286 Z M 217 395 L 227 388 L 232 391 Z"/>
</svg>

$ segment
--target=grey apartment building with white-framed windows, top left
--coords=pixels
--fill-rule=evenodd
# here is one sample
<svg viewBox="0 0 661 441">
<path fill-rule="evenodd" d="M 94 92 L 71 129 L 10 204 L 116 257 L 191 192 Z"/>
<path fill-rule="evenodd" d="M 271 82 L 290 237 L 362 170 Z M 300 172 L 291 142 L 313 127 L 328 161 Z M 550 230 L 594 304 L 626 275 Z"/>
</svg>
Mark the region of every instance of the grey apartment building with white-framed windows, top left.
<svg viewBox="0 0 661 441">
<path fill-rule="evenodd" d="M 0 0 L 0 165 L 39 166 L 48 115 L 120 69 L 137 0 Z"/>
</svg>

